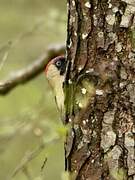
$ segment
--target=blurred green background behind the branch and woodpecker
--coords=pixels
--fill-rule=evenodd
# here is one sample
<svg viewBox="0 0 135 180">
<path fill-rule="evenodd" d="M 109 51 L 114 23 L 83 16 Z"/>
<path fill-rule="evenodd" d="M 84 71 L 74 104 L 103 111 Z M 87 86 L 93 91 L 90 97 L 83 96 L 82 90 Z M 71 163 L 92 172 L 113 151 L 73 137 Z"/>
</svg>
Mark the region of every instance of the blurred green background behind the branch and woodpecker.
<svg viewBox="0 0 135 180">
<path fill-rule="evenodd" d="M 32 63 L 50 44 L 65 41 L 65 0 L 0 0 L 0 81 Z M 53 141 L 60 132 L 62 124 L 44 74 L 0 96 L 0 180 L 62 179 L 63 138 Z M 47 146 L 38 153 L 44 142 Z M 14 174 L 33 151 L 36 157 Z"/>
</svg>

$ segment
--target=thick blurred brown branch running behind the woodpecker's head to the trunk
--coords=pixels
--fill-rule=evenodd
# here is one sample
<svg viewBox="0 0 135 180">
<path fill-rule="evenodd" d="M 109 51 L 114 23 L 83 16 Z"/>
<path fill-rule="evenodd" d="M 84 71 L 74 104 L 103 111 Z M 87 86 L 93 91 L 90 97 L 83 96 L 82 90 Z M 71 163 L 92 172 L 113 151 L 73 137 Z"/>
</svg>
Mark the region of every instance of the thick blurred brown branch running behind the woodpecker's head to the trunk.
<svg viewBox="0 0 135 180">
<path fill-rule="evenodd" d="M 9 75 L 7 79 L 0 81 L 0 95 L 5 95 L 16 86 L 32 80 L 44 70 L 50 59 L 64 53 L 64 45 L 52 45 L 50 48 L 48 48 L 46 53 L 37 58 L 34 63 L 30 64 L 24 69 L 12 73 L 12 75 Z"/>
</svg>

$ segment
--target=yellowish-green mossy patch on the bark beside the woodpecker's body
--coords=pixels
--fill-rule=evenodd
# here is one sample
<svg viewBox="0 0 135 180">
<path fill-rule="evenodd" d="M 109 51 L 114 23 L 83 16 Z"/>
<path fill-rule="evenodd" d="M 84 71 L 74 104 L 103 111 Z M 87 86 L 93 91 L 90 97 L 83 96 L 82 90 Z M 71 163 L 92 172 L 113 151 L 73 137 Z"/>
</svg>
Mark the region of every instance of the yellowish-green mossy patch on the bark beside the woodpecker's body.
<svg viewBox="0 0 135 180">
<path fill-rule="evenodd" d="M 79 70 L 82 69 L 79 67 Z M 81 79 L 79 82 L 69 79 L 68 84 L 64 86 L 65 92 L 65 109 L 69 118 L 72 112 L 85 108 L 92 96 L 95 95 L 94 83 L 88 78 Z"/>
</svg>

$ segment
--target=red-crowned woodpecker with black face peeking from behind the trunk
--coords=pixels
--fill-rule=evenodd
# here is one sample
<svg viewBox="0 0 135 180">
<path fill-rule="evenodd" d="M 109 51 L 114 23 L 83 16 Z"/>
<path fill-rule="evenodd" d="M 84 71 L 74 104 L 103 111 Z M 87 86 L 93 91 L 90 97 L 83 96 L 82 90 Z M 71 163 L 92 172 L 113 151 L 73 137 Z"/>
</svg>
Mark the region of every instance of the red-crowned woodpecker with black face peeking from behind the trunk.
<svg viewBox="0 0 135 180">
<path fill-rule="evenodd" d="M 53 90 L 61 118 L 64 114 L 63 82 L 65 79 L 66 61 L 64 56 L 58 56 L 49 61 L 45 68 L 45 75 Z"/>
</svg>

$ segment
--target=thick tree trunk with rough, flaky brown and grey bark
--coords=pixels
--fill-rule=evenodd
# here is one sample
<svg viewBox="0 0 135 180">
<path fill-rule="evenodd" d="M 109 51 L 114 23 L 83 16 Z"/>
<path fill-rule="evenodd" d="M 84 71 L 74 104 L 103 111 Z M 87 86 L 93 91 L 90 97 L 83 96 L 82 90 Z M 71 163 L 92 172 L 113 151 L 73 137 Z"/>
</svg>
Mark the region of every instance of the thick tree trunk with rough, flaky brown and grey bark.
<svg viewBox="0 0 135 180">
<path fill-rule="evenodd" d="M 68 0 L 66 170 L 135 179 L 135 0 Z"/>
</svg>

